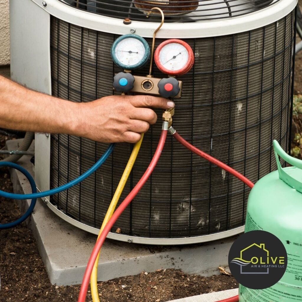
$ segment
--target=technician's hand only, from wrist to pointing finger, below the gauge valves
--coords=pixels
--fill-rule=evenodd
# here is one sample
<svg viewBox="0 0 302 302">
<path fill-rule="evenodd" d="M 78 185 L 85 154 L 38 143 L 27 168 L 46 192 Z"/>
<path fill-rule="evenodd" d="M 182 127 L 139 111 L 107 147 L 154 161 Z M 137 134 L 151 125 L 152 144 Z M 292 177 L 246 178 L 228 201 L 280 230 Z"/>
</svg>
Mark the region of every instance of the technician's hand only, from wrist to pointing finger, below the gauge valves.
<svg viewBox="0 0 302 302">
<path fill-rule="evenodd" d="M 149 107 L 168 109 L 174 103 L 149 95 L 112 95 L 79 107 L 80 126 L 74 134 L 104 143 L 136 143 L 140 133 L 156 123 L 156 113 Z"/>
</svg>

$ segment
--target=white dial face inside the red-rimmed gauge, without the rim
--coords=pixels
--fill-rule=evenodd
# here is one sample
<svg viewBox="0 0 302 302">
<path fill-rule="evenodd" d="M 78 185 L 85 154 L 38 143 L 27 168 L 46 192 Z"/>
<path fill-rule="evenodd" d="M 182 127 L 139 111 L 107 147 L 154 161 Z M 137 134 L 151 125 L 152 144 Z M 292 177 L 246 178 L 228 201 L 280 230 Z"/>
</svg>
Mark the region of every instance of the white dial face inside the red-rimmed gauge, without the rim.
<svg viewBox="0 0 302 302">
<path fill-rule="evenodd" d="M 166 44 L 159 52 L 159 62 L 165 69 L 177 71 L 185 67 L 189 54 L 186 48 L 178 43 Z"/>
</svg>

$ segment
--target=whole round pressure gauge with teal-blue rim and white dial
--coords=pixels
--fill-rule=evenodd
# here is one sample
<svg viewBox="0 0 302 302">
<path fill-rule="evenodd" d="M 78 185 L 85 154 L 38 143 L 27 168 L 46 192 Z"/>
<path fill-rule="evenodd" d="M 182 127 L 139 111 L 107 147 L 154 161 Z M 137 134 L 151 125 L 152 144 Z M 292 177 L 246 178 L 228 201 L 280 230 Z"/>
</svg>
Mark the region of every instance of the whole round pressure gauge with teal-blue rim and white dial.
<svg viewBox="0 0 302 302">
<path fill-rule="evenodd" d="M 135 34 L 127 34 L 114 41 L 111 56 L 114 63 L 123 69 L 139 69 L 148 62 L 150 47 L 144 38 Z"/>
</svg>

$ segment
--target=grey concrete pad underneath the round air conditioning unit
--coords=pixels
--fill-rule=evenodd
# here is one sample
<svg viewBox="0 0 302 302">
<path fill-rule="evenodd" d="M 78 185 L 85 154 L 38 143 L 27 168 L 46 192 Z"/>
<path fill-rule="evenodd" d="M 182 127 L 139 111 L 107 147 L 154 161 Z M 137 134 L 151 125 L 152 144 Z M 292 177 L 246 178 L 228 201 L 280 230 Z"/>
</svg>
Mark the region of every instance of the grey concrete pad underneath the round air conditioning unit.
<svg viewBox="0 0 302 302">
<path fill-rule="evenodd" d="M 7 148 L 17 149 L 19 142 L 9 140 Z M 18 163 L 33 174 L 29 160 L 30 156 L 23 156 Z M 11 179 L 14 192 L 31 192 L 20 172 L 11 170 Z M 22 212 L 29 202 L 19 201 Z M 97 237 L 59 218 L 41 199 L 27 223 L 33 230 L 51 283 L 81 283 Z M 236 237 L 185 246 L 146 246 L 107 239 L 98 265 L 98 280 L 107 281 L 158 268 L 182 269 L 185 273 L 203 276 L 219 275 L 218 266 L 227 266 L 228 252 Z"/>
</svg>

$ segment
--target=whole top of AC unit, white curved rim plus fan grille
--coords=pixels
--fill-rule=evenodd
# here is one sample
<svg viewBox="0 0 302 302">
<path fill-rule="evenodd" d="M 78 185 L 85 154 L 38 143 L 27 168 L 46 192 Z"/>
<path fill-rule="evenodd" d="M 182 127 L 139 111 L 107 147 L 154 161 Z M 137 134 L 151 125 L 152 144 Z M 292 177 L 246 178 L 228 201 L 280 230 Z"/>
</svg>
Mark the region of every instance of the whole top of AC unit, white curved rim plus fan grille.
<svg viewBox="0 0 302 302">
<path fill-rule="evenodd" d="M 152 8 L 159 7 L 164 11 L 165 24 L 158 38 L 214 37 L 249 31 L 284 18 L 297 5 L 297 0 L 32 1 L 75 25 L 112 34 L 135 32 L 142 37 L 153 36 L 154 23 L 161 17 Z M 124 23 L 127 18 L 131 23 Z"/>
</svg>

